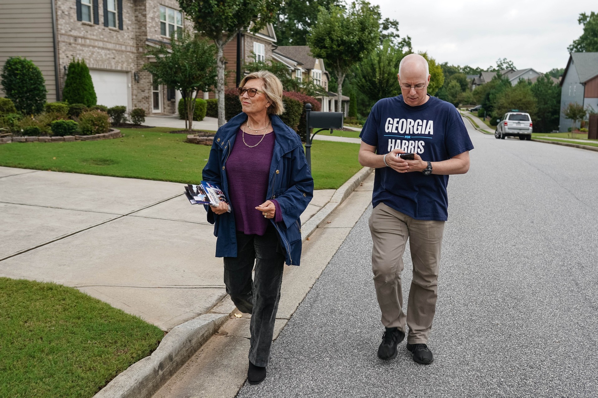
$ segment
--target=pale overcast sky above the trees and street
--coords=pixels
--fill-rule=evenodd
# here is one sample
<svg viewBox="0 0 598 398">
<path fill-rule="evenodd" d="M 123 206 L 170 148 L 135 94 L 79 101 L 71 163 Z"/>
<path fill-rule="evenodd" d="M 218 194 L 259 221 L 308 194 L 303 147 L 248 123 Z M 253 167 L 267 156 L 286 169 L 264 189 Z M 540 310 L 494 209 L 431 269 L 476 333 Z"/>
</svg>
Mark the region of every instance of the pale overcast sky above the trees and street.
<svg viewBox="0 0 598 398">
<path fill-rule="evenodd" d="M 596 0 L 370 2 L 399 21 L 414 51 L 428 51 L 438 63 L 486 69 L 506 57 L 517 69 L 538 72 L 566 66 L 567 47 L 583 33 L 579 13 L 598 11 Z"/>
</svg>

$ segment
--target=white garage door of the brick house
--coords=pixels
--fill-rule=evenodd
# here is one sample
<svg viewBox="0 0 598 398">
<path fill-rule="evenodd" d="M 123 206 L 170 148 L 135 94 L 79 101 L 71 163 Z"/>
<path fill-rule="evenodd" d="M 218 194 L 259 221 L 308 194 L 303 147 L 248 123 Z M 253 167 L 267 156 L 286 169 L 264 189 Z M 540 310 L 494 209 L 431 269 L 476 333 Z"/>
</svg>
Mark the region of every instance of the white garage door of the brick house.
<svg viewBox="0 0 598 398">
<path fill-rule="evenodd" d="M 96 90 L 98 105 L 129 107 L 127 72 L 90 69 L 89 73 L 91 81 L 93 81 L 93 88 Z"/>
</svg>

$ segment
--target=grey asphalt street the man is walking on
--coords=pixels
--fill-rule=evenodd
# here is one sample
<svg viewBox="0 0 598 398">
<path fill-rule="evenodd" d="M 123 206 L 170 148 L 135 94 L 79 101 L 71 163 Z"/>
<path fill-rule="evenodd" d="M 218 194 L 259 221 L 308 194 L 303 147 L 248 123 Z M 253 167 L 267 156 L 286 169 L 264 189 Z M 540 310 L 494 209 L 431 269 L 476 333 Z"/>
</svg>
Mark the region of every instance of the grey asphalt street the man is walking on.
<svg viewBox="0 0 598 398">
<path fill-rule="evenodd" d="M 471 125 L 465 121 L 468 128 Z M 431 365 L 382 338 L 365 211 L 238 397 L 598 396 L 598 153 L 469 130 L 449 181 Z M 404 301 L 411 282 L 405 252 Z"/>
</svg>

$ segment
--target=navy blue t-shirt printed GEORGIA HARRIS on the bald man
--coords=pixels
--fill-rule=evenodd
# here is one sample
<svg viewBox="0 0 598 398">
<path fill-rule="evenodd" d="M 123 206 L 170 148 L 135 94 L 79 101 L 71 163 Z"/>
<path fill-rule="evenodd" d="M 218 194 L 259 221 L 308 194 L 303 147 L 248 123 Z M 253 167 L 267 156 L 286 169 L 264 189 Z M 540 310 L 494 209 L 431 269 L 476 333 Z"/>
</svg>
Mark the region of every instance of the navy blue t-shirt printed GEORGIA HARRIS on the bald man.
<svg viewBox="0 0 598 398">
<path fill-rule="evenodd" d="M 402 95 L 378 101 L 359 137 L 375 146 L 379 155 L 398 147 L 430 162 L 446 161 L 474 149 L 457 109 L 432 96 L 420 106 L 405 104 Z M 448 183 L 448 175 L 377 168 L 372 205 L 383 202 L 416 220 L 446 221 Z"/>
</svg>

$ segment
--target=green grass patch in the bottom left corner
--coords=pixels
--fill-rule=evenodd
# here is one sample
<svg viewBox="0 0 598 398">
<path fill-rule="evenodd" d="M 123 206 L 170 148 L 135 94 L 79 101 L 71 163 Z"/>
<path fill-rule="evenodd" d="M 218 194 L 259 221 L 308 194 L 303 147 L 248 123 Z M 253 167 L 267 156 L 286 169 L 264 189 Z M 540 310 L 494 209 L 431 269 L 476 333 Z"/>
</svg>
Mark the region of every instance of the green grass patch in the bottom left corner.
<svg viewBox="0 0 598 398">
<path fill-rule="evenodd" d="M 0 278 L 0 396 L 91 397 L 164 332 L 77 289 Z"/>
</svg>

